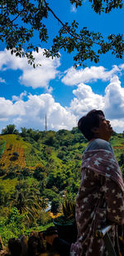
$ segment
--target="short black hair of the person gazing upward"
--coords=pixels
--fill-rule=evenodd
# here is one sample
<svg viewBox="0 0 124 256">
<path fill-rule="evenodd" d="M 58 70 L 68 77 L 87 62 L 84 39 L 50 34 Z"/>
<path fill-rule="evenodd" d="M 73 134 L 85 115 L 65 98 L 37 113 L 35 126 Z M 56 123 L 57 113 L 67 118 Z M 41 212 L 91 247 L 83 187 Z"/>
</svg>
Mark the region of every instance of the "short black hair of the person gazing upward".
<svg viewBox="0 0 124 256">
<path fill-rule="evenodd" d="M 93 128 L 99 127 L 99 116 L 104 117 L 102 110 L 93 109 L 88 114 L 79 119 L 78 127 L 84 137 L 90 141 L 94 138 Z"/>
</svg>

